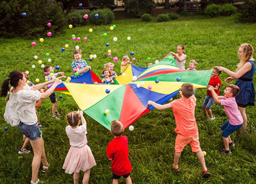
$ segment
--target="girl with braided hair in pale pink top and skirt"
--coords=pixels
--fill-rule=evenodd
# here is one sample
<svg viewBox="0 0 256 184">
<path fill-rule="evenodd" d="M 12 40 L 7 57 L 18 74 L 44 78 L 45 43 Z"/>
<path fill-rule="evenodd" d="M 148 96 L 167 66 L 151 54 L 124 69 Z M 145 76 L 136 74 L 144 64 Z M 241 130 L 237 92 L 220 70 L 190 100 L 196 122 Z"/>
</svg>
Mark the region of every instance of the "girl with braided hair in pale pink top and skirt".
<svg viewBox="0 0 256 184">
<path fill-rule="evenodd" d="M 80 170 L 84 172 L 83 184 L 88 183 L 90 177 L 90 170 L 96 165 L 92 155 L 91 148 L 87 145 L 86 138 L 86 120 L 83 117 L 83 111 L 73 111 L 66 115 L 68 126 L 66 126 L 66 133 L 71 145 L 62 169 L 65 172 L 72 174 L 74 172 L 74 184 L 78 184 Z M 80 117 L 82 125 L 80 124 Z"/>
</svg>

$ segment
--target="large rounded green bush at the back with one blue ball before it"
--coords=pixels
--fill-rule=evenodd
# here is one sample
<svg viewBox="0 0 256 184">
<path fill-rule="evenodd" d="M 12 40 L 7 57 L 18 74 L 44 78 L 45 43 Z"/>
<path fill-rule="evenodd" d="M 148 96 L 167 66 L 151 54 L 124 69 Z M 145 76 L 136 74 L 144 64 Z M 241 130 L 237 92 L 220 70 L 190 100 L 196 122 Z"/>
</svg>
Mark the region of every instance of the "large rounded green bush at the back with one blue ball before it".
<svg viewBox="0 0 256 184">
<path fill-rule="evenodd" d="M 95 14 L 99 14 L 99 17 L 96 18 Z M 114 18 L 114 13 L 109 8 L 93 10 L 88 17 L 89 22 L 93 25 L 111 24 Z"/>
</svg>

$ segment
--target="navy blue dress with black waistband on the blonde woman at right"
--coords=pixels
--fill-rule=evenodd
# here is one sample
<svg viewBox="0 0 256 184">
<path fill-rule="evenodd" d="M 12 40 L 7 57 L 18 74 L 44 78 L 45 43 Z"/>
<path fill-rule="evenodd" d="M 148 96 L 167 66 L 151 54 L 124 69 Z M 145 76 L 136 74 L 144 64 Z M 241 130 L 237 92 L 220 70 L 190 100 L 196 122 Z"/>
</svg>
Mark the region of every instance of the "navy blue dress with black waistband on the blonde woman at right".
<svg viewBox="0 0 256 184">
<path fill-rule="evenodd" d="M 238 78 L 235 83 L 235 85 L 240 88 L 238 95 L 235 97 L 239 107 L 254 106 L 255 101 L 255 89 L 252 82 L 252 78 L 255 72 L 255 64 L 254 61 L 251 60 L 247 62 L 251 63 L 251 70 Z"/>
</svg>

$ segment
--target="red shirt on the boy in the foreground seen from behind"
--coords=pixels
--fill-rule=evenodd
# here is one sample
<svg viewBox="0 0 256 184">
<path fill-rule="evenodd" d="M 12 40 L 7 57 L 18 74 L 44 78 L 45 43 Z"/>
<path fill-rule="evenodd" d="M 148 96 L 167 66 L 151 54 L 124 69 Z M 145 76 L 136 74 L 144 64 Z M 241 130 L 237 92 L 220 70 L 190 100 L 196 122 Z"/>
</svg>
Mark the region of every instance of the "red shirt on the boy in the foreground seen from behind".
<svg viewBox="0 0 256 184">
<path fill-rule="evenodd" d="M 132 171 L 126 136 L 114 137 L 113 141 L 108 143 L 106 152 L 108 158 L 112 158 L 111 169 L 115 175 L 122 176 Z"/>
</svg>

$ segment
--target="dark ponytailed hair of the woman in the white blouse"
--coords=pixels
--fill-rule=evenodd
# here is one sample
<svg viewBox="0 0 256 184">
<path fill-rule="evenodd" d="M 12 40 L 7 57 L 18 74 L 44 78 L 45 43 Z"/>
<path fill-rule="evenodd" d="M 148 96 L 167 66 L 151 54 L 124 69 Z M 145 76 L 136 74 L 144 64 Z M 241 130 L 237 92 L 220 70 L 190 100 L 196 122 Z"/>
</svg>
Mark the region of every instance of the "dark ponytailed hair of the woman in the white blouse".
<svg viewBox="0 0 256 184">
<path fill-rule="evenodd" d="M 9 82 L 10 85 L 13 86 L 14 88 L 18 86 L 19 79 L 23 79 L 23 73 L 20 70 L 14 70 L 9 74 L 9 77 L 5 79 L 5 81 L 2 84 L 2 89 L 1 89 L 1 97 L 6 97 L 8 91 L 10 90 L 9 88 Z"/>
</svg>

